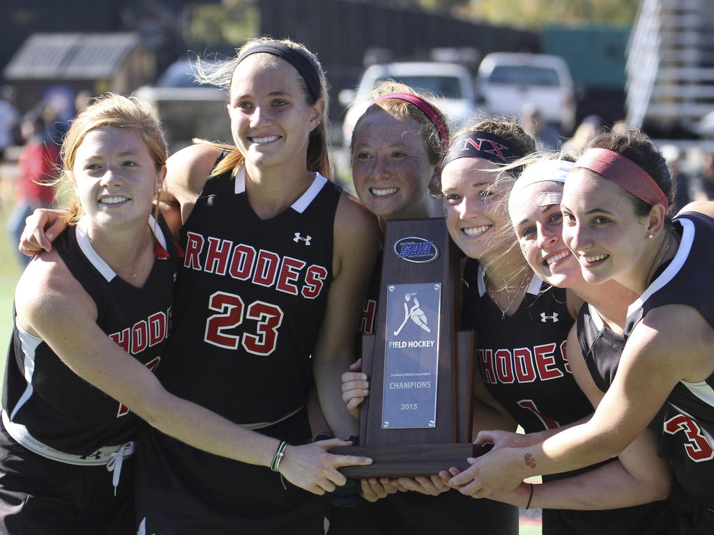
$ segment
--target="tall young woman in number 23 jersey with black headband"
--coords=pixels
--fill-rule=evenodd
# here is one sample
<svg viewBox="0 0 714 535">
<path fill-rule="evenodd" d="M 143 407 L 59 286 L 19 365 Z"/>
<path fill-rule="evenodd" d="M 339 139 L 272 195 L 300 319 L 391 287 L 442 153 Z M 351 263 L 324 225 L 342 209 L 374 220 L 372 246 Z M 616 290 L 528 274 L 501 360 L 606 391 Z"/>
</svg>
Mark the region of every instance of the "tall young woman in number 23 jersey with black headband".
<svg viewBox="0 0 714 535">
<path fill-rule="evenodd" d="M 235 146 L 199 143 L 167 161 L 185 255 L 159 378 L 253 430 L 244 447 L 255 457 L 227 462 L 147 430 L 139 532 L 323 533 L 325 502 L 305 490 L 332 491 L 346 481 L 338 467 L 368 459 L 328 454 L 340 439 L 305 445 L 305 405 L 316 384 L 332 432 L 356 430 L 339 377 L 354 360 L 378 228 L 326 178 L 327 90 L 313 54 L 258 39 L 212 76 L 229 89 Z"/>
</svg>

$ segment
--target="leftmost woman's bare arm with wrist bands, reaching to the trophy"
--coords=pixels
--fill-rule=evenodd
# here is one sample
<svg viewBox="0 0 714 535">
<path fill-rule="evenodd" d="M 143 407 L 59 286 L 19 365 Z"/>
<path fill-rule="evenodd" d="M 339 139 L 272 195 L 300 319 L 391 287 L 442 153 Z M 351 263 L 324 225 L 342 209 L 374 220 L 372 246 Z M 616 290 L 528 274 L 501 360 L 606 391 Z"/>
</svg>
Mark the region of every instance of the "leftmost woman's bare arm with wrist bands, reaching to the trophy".
<svg viewBox="0 0 714 535">
<path fill-rule="evenodd" d="M 73 372 L 156 429 L 212 454 L 270 466 L 280 442 L 167 392 L 154 373 L 99 328 L 94 301 L 56 252 L 28 265 L 17 285 L 16 311 L 20 325 L 41 337 Z M 280 472 L 315 494 L 332 491 L 346 481 L 338 467 L 370 462 L 326 451 L 346 445 L 332 439 L 288 446 Z"/>
</svg>

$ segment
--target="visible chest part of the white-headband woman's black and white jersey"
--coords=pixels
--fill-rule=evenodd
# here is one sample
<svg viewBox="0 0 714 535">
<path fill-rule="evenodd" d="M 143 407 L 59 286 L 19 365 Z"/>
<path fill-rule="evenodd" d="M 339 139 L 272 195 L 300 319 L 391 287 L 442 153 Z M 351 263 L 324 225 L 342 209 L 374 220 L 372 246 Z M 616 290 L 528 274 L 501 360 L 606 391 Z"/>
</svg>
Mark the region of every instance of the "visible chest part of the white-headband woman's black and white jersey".
<svg viewBox="0 0 714 535">
<path fill-rule="evenodd" d="M 618 371 L 625 337 L 605 325 L 595 307 L 585 303 L 578 312 L 578 344 L 595 386 L 607 392 Z"/>
</svg>

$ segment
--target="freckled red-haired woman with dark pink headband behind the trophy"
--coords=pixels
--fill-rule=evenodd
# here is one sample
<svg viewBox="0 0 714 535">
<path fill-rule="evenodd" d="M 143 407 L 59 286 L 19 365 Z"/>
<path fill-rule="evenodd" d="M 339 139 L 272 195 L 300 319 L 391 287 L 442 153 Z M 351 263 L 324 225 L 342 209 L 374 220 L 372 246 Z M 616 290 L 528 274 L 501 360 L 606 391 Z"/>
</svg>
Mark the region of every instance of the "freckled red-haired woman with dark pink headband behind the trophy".
<svg viewBox="0 0 714 535">
<path fill-rule="evenodd" d="M 438 215 L 441 202 L 430 195 L 430 186 L 438 188 L 440 164 L 448 146 L 448 128 L 441 112 L 428 96 L 403 84 L 382 83 L 371 98 L 371 106 L 356 123 L 351 143 L 352 177 L 358 197 L 382 222 Z M 361 323 L 363 332 L 369 334 L 376 319 L 380 275 L 381 261 Z M 351 370 L 343 374 L 343 399 L 357 416 L 358 402 L 367 394 L 366 374 L 358 372 L 359 365 Z M 351 398 L 348 392 L 359 399 Z M 419 479 L 425 486 L 433 485 L 430 478 Z M 361 485 L 363 496 L 376 503 L 333 508 L 331 534 L 387 533 L 397 526 L 414 534 L 437 529 L 472 532 L 475 515 L 479 518 L 477 533 L 506 535 L 518 531 L 518 511 L 506 504 L 474 502 L 453 491 L 436 497 L 413 492 L 394 494 L 403 487 L 388 478 L 364 479 Z M 384 496 L 386 499 L 378 499 Z"/>
</svg>

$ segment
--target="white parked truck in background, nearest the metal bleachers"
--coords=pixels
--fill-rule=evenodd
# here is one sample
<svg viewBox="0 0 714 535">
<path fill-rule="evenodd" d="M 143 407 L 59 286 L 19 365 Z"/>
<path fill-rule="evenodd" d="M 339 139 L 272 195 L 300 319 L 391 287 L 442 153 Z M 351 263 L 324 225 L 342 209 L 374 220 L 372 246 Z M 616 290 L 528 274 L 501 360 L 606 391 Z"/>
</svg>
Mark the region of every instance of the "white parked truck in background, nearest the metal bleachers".
<svg viewBox="0 0 714 535">
<path fill-rule="evenodd" d="M 494 52 L 478 67 L 478 92 L 491 115 L 520 116 L 534 106 L 563 134 L 575 127 L 575 90 L 563 58 L 549 54 Z"/>
</svg>

